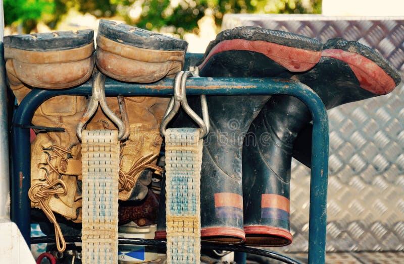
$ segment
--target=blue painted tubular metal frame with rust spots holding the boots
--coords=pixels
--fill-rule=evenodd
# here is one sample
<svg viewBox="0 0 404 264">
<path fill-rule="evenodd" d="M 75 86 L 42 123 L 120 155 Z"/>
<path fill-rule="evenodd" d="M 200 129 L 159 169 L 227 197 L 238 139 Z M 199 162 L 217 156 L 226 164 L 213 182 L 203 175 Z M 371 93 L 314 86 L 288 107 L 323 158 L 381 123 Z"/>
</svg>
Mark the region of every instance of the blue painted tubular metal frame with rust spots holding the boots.
<svg viewBox="0 0 404 264">
<path fill-rule="evenodd" d="M 106 79 L 107 96 L 170 96 L 173 79 L 153 84 L 129 84 Z M 292 95 L 304 102 L 313 117 L 312 170 L 310 185 L 309 263 L 325 262 L 328 178 L 328 117 L 318 95 L 304 84 L 271 78 L 190 78 L 187 95 Z M 27 125 L 45 100 L 57 95 L 89 95 L 91 80 L 64 90 L 33 89 L 18 107 L 12 124 L 12 220 L 30 242 L 30 135 Z"/>
</svg>

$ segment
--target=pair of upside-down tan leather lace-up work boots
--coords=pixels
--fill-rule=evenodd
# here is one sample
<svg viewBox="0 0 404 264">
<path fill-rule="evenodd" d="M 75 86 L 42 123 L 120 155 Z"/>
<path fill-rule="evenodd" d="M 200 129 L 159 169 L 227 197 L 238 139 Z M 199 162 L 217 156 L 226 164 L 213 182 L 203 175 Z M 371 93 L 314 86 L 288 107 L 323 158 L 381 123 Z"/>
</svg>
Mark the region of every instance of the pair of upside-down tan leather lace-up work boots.
<svg viewBox="0 0 404 264">
<path fill-rule="evenodd" d="M 32 88 L 64 89 L 86 82 L 94 63 L 105 75 L 124 82 L 150 83 L 173 76 L 183 67 L 188 45 L 107 20 L 99 22 L 96 41 L 95 51 L 92 30 L 6 36 L 7 78 L 17 103 Z M 151 174 L 161 170 L 155 166 L 162 142 L 159 126 L 169 98 L 137 96 L 124 100 L 130 136 L 121 144 L 119 199 L 142 200 Z M 120 116 L 117 98 L 107 98 L 107 103 Z M 42 132 L 31 143 L 28 194 L 31 207 L 46 214 L 57 235 L 61 230 L 53 212 L 81 222 L 81 145 L 76 125 L 85 106 L 84 96 L 56 96 L 42 103 L 32 119 Z M 98 109 L 87 129 L 117 128 Z M 64 250 L 63 243 L 58 243 L 58 250 Z"/>
</svg>

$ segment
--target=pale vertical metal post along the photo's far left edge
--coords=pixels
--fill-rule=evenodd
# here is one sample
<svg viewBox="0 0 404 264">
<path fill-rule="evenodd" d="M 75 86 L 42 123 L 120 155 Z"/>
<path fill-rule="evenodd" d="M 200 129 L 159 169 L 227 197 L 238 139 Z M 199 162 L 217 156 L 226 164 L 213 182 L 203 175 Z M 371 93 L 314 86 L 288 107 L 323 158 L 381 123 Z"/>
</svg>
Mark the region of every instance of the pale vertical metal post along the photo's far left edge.
<svg viewBox="0 0 404 264">
<path fill-rule="evenodd" d="M 4 61 L 4 14 L 0 0 L 0 219 L 10 219 L 9 134 L 7 117 L 7 87 Z"/>
</svg>

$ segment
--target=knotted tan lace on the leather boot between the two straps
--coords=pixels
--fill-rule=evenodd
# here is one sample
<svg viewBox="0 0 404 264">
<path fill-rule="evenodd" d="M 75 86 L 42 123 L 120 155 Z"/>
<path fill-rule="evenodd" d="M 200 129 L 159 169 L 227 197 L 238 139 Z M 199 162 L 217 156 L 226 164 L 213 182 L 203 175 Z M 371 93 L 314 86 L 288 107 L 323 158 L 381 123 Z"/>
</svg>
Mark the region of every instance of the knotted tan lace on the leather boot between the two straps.
<svg viewBox="0 0 404 264">
<path fill-rule="evenodd" d="M 140 176 L 140 171 L 144 169 L 153 169 L 155 170 L 155 173 L 161 174 L 163 172 L 163 168 L 150 164 L 153 162 L 155 159 L 157 159 L 159 155 L 153 153 L 149 153 L 143 157 L 141 157 L 139 160 L 137 160 L 132 167 L 129 169 L 128 172 L 124 172 L 122 170 L 122 162 L 120 162 L 120 168 L 119 168 L 119 191 L 121 190 L 126 190 L 130 191 L 134 186 L 137 181 L 137 179 Z M 121 160 L 122 160 L 122 148 L 121 148 Z"/>
</svg>

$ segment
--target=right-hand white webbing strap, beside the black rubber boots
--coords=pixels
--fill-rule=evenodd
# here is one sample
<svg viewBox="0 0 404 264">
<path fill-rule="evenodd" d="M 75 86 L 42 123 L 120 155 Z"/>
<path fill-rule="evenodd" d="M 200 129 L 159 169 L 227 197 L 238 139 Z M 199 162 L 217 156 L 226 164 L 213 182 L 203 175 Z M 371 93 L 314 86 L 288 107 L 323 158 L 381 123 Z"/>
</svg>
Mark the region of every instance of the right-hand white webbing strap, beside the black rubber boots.
<svg viewBox="0 0 404 264">
<path fill-rule="evenodd" d="M 200 129 L 166 134 L 167 263 L 200 263 Z"/>
</svg>

